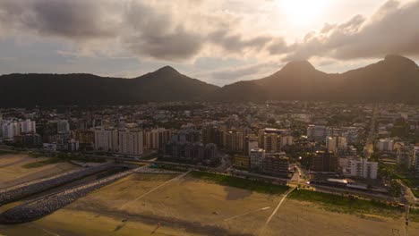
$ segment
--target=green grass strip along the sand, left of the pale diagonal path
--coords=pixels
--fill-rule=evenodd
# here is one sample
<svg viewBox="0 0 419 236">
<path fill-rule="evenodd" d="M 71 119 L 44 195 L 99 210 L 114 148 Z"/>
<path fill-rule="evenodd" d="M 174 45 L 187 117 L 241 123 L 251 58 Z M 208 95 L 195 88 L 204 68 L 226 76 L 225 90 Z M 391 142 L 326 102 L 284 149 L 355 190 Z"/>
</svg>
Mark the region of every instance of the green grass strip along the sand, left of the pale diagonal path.
<svg viewBox="0 0 419 236">
<path fill-rule="evenodd" d="M 263 181 L 251 181 L 217 173 L 192 172 L 191 175 L 194 178 L 201 179 L 204 181 L 211 181 L 220 185 L 231 186 L 245 190 L 252 190 L 255 192 L 267 194 L 282 194 L 286 192 L 286 190 L 289 190 L 289 187 L 287 186 L 279 186 Z"/>
</svg>

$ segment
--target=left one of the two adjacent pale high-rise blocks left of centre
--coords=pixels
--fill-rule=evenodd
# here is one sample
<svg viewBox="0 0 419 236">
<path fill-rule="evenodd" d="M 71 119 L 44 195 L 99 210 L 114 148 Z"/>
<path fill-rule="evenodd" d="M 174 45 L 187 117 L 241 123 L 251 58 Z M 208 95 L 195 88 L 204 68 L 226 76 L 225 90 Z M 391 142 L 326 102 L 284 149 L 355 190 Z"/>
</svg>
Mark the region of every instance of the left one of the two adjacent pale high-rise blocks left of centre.
<svg viewBox="0 0 419 236">
<path fill-rule="evenodd" d="M 106 152 L 117 152 L 118 131 L 113 127 L 97 127 L 95 129 L 95 149 Z"/>
</svg>

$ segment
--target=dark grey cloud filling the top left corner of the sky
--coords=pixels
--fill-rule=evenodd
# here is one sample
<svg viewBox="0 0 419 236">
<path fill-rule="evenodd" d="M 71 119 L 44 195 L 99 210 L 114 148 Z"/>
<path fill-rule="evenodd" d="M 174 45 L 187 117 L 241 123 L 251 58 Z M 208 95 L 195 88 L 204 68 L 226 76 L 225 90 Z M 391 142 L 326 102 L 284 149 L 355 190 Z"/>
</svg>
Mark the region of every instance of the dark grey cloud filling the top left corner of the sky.
<svg viewBox="0 0 419 236">
<path fill-rule="evenodd" d="M 0 19 L 5 28 L 33 30 L 40 35 L 71 39 L 115 36 L 114 21 L 107 21 L 103 6 L 87 0 L 3 0 Z"/>
</svg>

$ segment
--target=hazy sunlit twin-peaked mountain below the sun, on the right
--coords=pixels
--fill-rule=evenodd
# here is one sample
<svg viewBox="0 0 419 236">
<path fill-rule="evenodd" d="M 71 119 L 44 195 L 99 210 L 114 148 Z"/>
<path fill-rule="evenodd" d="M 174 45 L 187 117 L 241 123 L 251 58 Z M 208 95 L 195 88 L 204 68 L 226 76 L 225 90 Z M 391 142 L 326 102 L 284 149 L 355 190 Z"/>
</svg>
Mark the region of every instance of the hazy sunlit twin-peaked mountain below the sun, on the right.
<svg viewBox="0 0 419 236">
<path fill-rule="evenodd" d="M 242 101 L 419 103 L 418 89 L 419 67 L 415 62 L 400 55 L 387 55 L 378 63 L 340 74 L 320 72 L 307 61 L 295 61 L 266 78 L 224 86 L 209 93 L 206 99 L 236 101 L 239 95 Z"/>
</svg>

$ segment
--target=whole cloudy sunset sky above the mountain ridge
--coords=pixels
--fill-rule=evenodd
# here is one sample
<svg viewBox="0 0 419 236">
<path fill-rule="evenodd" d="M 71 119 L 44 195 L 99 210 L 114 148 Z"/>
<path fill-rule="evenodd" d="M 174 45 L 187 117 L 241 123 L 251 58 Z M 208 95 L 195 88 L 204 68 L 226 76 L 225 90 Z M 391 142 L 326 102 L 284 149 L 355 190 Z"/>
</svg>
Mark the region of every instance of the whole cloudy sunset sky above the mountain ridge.
<svg viewBox="0 0 419 236">
<path fill-rule="evenodd" d="M 308 60 L 419 62 L 419 0 L 1 0 L 0 74 L 135 78 L 171 65 L 216 85 Z"/>
</svg>

